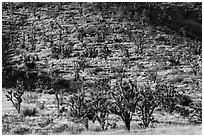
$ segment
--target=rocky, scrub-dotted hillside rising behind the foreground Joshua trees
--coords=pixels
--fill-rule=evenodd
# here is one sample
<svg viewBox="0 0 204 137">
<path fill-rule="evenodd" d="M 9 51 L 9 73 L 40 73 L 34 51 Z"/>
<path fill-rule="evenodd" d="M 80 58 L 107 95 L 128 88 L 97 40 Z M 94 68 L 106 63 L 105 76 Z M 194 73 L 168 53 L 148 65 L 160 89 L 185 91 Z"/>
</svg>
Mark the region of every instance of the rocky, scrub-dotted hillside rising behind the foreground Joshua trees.
<svg viewBox="0 0 204 137">
<path fill-rule="evenodd" d="M 73 93 L 80 85 L 77 80 L 85 89 L 103 78 L 114 85 L 118 73 L 124 72 L 125 79 L 138 84 L 171 83 L 201 102 L 202 44 L 200 32 L 193 32 L 202 25 L 183 17 L 187 28 L 197 28 L 176 32 L 178 26 L 161 25 L 165 20 L 149 21 L 153 15 L 117 10 L 124 10 L 121 5 L 3 3 L 3 86 L 13 88 L 24 81 L 27 91 L 53 93 L 57 77 L 57 88 Z M 168 15 L 174 4 L 169 5 Z"/>
</svg>

